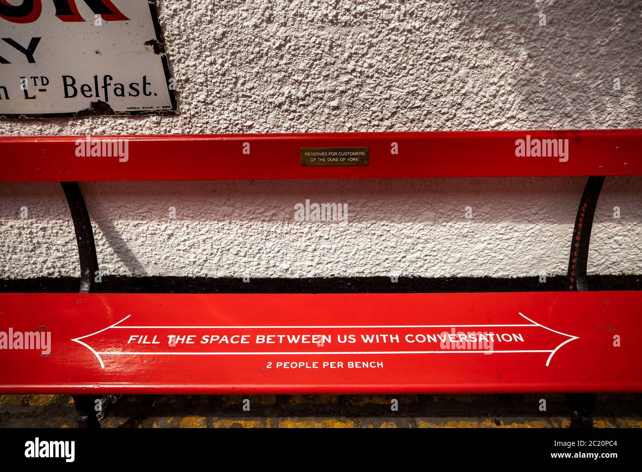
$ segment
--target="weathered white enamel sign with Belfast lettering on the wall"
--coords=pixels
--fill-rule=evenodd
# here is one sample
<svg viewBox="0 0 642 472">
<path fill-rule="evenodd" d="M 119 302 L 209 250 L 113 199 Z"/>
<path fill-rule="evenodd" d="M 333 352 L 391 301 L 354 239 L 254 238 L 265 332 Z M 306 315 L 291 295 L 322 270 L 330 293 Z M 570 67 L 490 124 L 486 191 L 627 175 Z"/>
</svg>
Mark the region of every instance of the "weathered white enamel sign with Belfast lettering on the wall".
<svg viewBox="0 0 642 472">
<path fill-rule="evenodd" d="M 0 118 L 175 114 L 153 0 L 0 0 Z"/>
</svg>

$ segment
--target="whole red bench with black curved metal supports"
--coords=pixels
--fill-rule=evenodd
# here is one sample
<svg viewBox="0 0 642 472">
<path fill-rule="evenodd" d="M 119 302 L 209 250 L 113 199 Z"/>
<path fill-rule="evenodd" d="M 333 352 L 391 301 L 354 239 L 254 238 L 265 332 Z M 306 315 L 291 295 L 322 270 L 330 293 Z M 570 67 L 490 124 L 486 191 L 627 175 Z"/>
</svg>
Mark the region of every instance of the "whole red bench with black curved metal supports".
<svg viewBox="0 0 642 472">
<path fill-rule="evenodd" d="M 0 295 L 2 393 L 80 403 L 105 393 L 642 391 L 641 292 L 586 292 L 602 181 L 642 174 L 641 130 L 117 138 L 128 139 L 126 160 L 79 157 L 84 137 L 0 139 L 0 180 L 65 182 L 83 292 Z M 525 155 L 537 140 L 549 151 L 561 140 L 566 155 Z M 308 148 L 369 155 L 317 166 Z M 75 184 L 569 175 L 593 177 L 569 228 L 568 292 L 528 293 L 91 293 L 98 261 Z M 13 349 L 16 336 L 32 349 Z"/>
</svg>

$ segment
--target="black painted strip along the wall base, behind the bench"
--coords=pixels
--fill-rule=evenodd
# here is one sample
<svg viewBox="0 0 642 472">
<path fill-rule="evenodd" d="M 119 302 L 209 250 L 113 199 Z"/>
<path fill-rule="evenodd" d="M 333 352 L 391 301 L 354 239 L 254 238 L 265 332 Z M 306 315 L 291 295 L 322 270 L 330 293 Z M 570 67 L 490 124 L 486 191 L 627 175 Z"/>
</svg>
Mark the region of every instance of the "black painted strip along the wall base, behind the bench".
<svg viewBox="0 0 642 472">
<path fill-rule="evenodd" d="M 589 275 L 591 290 L 642 290 L 642 274 Z M 566 276 L 546 277 L 128 277 L 103 275 L 104 293 L 455 293 L 568 292 Z M 0 279 L 0 293 L 74 293 L 78 277 Z"/>
</svg>

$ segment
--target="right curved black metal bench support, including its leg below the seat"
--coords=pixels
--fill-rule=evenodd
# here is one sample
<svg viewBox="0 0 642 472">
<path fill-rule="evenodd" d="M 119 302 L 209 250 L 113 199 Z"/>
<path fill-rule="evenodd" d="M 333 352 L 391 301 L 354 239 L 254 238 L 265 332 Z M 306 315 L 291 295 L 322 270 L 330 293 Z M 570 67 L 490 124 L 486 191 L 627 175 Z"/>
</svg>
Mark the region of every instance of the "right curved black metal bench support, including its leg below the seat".
<svg viewBox="0 0 642 472">
<path fill-rule="evenodd" d="M 586 279 L 586 267 L 589 259 L 589 242 L 593 216 L 600 198 L 604 183 L 603 176 L 591 176 L 586 182 L 582 200 L 575 217 L 573 238 L 571 239 L 571 256 L 568 262 L 568 289 L 571 292 L 586 292 L 589 285 Z M 566 394 L 571 408 L 571 428 L 593 428 L 595 410 L 594 394 Z"/>
</svg>

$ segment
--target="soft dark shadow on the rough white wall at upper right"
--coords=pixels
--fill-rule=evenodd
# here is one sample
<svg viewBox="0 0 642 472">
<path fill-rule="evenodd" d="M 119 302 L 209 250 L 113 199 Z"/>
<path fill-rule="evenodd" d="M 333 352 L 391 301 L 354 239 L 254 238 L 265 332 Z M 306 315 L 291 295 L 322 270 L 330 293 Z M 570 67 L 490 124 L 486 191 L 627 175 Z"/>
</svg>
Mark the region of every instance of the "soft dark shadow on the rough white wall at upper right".
<svg viewBox="0 0 642 472">
<path fill-rule="evenodd" d="M 532 128 L 569 122 L 642 127 L 639 1 L 477 0 L 458 6 L 458 30 L 489 44 L 488 51 L 460 63 L 457 72 L 467 77 L 469 93 L 493 95 L 503 87 L 517 92 L 514 103 L 503 107 L 506 115 L 494 117 L 496 124 L 518 118 Z M 489 83 L 482 74 L 492 61 L 508 74 Z"/>
</svg>

